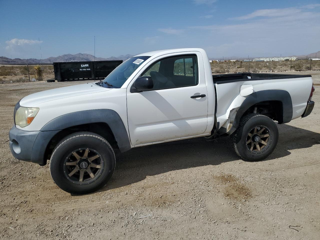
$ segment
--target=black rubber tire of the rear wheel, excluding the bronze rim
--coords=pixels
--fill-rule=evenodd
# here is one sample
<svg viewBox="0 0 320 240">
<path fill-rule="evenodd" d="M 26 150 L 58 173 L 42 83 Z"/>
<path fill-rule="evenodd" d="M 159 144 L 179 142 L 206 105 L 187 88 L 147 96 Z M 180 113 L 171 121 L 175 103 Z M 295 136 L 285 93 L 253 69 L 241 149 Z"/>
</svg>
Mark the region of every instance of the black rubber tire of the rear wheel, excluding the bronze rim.
<svg viewBox="0 0 320 240">
<path fill-rule="evenodd" d="M 260 151 L 256 149 L 257 152 L 253 152 L 247 147 L 248 138 L 250 140 L 248 134 L 258 126 L 265 126 L 268 129 L 268 145 Z M 279 133 L 275 122 L 271 118 L 259 114 L 249 114 L 241 118 L 237 130 L 230 137 L 231 147 L 239 157 L 247 161 L 260 161 L 268 157 L 276 148 Z"/>
</svg>

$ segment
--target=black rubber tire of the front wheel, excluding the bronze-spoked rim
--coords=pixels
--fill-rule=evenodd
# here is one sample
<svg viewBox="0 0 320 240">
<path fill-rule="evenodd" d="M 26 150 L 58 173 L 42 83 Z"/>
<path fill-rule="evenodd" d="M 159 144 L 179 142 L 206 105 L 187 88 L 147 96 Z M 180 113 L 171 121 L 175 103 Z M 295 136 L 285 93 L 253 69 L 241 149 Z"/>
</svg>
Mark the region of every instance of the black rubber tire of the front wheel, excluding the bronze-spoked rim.
<svg viewBox="0 0 320 240">
<path fill-rule="evenodd" d="M 78 149 L 90 149 L 89 153 L 91 153 L 91 149 L 94 149 L 94 151 L 97 152 L 97 155 L 99 155 L 97 159 L 99 159 L 99 161 L 101 162 L 102 167 L 100 166 L 100 169 L 96 170 L 101 172 L 99 172 L 99 176 L 97 176 L 97 179 L 92 178 L 91 183 L 78 182 L 78 184 L 75 184 L 74 182 L 72 182 L 71 177 L 69 177 L 65 172 L 66 165 L 68 165 L 66 164 L 66 161 L 70 160 L 70 157 L 68 158 L 68 156 L 70 156 L 70 153 L 73 155 L 75 150 L 78 151 Z M 81 155 L 81 151 L 78 151 L 79 155 Z M 76 167 L 79 168 L 80 165 L 81 164 Z M 92 132 L 76 132 L 62 139 L 54 148 L 50 159 L 50 173 L 54 183 L 57 184 L 58 187 L 62 190 L 72 194 L 86 194 L 94 192 L 103 187 L 111 178 L 115 170 L 115 165 L 115 153 L 107 140 L 105 140 L 100 135 Z M 92 169 L 90 167 L 88 168 L 89 170 Z M 82 169 L 82 171 L 86 170 Z M 80 170 L 77 173 L 80 175 Z M 84 174 L 89 175 L 89 173 L 87 172 L 85 172 Z"/>
</svg>

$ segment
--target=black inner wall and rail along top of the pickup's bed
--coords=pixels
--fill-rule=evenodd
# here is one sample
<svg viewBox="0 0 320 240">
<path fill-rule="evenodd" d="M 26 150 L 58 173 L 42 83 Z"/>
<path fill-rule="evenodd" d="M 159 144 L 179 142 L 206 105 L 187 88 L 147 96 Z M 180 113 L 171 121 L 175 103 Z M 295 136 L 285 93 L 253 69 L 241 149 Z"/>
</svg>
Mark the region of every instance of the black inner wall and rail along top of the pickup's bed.
<svg viewBox="0 0 320 240">
<path fill-rule="evenodd" d="M 232 83 L 245 80 L 268 80 L 268 79 L 285 79 L 285 78 L 299 78 L 311 77 L 311 75 L 293 75 L 293 74 L 274 74 L 274 73 L 229 73 L 212 75 L 213 83 L 223 84 Z"/>
</svg>

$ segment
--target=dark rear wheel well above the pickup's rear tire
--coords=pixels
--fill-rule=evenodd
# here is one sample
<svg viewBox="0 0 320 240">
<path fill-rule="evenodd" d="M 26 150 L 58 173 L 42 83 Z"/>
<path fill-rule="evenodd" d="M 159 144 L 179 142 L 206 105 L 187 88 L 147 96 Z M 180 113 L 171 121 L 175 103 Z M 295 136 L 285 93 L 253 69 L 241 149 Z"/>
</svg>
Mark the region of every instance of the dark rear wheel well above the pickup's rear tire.
<svg viewBox="0 0 320 240">
<path fill-rule="evenodd" d="M 272 120 L 277 121 L 279 124 L 283 122 L 283 104 L 281 101 L 263 101 L 252 105 L 244 114 L 248 115 L 257 113 L 270 117 Z"/>
</svg>

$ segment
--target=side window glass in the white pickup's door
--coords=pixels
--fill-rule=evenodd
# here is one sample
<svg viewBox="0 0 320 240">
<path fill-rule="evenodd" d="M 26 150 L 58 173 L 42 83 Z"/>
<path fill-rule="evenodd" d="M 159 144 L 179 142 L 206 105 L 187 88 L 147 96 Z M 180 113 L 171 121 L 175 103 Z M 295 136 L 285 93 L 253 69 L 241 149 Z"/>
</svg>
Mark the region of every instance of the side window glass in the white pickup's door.
<svg viewBox="0 0 320 240">
<path fill-rule="evenodd" d="M 164 58 L 151 65 L 141 76 L 150 76 L 153 89 L 195 86 L 198 84 L 196 55 Z"/>
</svg>

